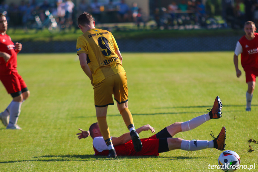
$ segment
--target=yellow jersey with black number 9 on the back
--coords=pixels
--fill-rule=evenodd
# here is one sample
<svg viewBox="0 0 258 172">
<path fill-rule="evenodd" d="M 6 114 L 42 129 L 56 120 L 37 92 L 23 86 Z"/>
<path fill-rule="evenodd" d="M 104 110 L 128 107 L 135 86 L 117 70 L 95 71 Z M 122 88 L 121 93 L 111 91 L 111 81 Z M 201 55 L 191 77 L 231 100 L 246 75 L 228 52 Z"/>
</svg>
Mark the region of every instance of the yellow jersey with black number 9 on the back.
<svg viewBox="0 0 258 172">
<path fill-rule="evenodd" d="M 111 32 L 102 29 L 90 29 L 77 39 L 77 54 L 87 54 L 87 63 L 97 84 L 107 77 L 124 71 L 122 63 L 115 53 L 119 50 Z"/>
</svg>

